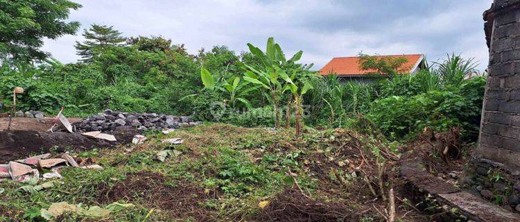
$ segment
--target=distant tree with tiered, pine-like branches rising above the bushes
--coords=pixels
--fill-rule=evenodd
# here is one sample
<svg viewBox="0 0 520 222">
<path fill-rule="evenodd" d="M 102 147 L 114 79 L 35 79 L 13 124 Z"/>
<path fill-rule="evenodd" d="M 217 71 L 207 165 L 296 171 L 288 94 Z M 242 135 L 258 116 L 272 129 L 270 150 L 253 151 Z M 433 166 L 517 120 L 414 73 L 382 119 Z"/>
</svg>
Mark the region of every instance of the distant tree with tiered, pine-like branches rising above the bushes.
<svg viewBox="0 0 520 222">
<path fill-rule="evenodd" d="M 83 33 L 85 41 L 76 41 L 76 54 L 83 58 L 83 62 L 92 62 L 94 57 L 103 53 L 103 50 L 121 46 L 125 42 L 125 37 L 121 37 L 121 33 L 114 29 L 113 26 L 105 26 L 92 24 L 92 26 Z"/>
</svg>

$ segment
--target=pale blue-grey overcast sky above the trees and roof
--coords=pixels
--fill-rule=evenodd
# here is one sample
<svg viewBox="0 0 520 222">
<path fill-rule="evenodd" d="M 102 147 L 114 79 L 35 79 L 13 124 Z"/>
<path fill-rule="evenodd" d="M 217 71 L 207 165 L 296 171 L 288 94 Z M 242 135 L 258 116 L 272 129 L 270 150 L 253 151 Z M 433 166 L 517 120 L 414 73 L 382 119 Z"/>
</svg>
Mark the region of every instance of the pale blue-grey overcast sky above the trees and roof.
<svg viewBox="0 0 520 222">
<path fill-rule="evenodd" d="M 424 53 L 429 61 L 446 53 L 474 57 L 487 67 L 482 13 L 490 0 L 174 1 L 73 0 L 81 23 L 77 35 L 46 40 L 44 50 L 62 62 L 78 59 L 73 47 L 90 24 L 114 26 L 125 37 L 161 35 L 184 43 L 190 53 L 226 45 L 239 53 L 246 43 L 265 48 L 275 37 L 287 56 L 303 50 L 315 69 L 331 58 L 368 54 Z"/>
</svg>

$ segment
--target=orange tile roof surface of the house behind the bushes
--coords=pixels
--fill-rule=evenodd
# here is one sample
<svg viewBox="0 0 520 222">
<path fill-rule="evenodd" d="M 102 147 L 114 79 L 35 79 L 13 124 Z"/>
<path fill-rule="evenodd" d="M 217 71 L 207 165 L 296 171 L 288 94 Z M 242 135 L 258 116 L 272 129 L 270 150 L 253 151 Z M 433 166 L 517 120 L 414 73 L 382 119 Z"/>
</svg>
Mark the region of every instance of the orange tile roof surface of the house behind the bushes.
<svg viewBox="0 0 520 222">
<path fill-rule="evenodd" d="M 406 68 L 406 72 L 411 72 L 419 62 L 421 62 L 424 55 L 413 54 L 413 55 L 392 55 L 392 56 L 376 56 L 376 58 L 398 58 L 404 57 L 408 60 L 403 67 Z M 327 65 L 320 69 L 320 75 L 336 74 L 338 76 L 360 76 L 369 73 L 373 73 L 373 70 L 361 70 L 359 69 L 359 57 L 336 57 L 333 58 Z"/>
</svg>

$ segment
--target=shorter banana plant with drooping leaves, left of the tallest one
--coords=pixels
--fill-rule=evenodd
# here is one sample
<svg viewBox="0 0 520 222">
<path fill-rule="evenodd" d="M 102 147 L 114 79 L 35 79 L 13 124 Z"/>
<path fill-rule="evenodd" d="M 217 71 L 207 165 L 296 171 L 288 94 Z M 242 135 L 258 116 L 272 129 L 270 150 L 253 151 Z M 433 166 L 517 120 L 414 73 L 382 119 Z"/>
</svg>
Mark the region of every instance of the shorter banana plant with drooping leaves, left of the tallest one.
<svg viewBox="0 0 520 222">
<path fill-rule="evenodd" d="M 247 96 L 249 92 L 257 90 L 259 87 L 248 88 L 249 83 L 241 83 L 239 77 L 229 78 L 227 80 L 222 80 L 220 83 L 216 83 L 213 75 L 211 75 L 211 73 L 209 73 L 209 71 L 204 67 L 200 69 L 200 78 L 202 79 L 202 84 L 205 88 L 211 90 L 218 89 L 227 94 L 232 108 L 236 108 L 237 101 L 243 103 L 247 108 L 252 108 L 251 103 L 245 99 L 245 96 Z"/>
</svg>

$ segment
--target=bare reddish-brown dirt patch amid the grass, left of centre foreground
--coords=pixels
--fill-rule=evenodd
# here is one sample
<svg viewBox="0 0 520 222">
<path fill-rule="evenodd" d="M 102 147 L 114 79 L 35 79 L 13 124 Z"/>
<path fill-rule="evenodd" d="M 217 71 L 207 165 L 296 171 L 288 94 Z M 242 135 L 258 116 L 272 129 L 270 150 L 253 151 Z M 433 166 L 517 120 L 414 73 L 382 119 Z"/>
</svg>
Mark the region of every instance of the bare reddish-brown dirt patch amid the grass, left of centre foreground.
<svg viewBox="0 0 520 222">
<path fill-rule="evenodd" d="M 150 172 L 128 173 L 125 180 L 117 182 L 113 187 L 102 183 L 99 190 L 100 203 L 117 200 L 139 202 L 147 207 L 170 210 L 169 214 L 174 218 L 191 217 L 196 221 L 209 220 L 209 211 L 202 204 L 209 196 L 214 196 L 181 180 L 174 186 L 166 185 L 164 176 Z"/>
</svg>

